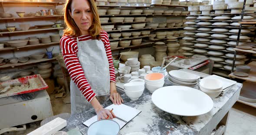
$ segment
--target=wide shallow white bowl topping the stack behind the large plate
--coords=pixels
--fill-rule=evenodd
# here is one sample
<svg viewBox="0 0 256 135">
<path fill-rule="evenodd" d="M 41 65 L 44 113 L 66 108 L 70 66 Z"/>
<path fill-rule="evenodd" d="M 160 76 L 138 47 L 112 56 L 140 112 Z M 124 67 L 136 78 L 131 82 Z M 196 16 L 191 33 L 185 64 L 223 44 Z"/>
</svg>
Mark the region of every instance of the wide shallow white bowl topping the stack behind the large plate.
<svg viewBox="0 0 256 135">
<path fill-rule="evenodd" d="M 200 76 L 198 75 L 177 70 L 170 71 L 169 75 L 175 78 L 176 80 L 180 80 L 187 83 L 193 83 L 200 78 Z"/>
</svg>

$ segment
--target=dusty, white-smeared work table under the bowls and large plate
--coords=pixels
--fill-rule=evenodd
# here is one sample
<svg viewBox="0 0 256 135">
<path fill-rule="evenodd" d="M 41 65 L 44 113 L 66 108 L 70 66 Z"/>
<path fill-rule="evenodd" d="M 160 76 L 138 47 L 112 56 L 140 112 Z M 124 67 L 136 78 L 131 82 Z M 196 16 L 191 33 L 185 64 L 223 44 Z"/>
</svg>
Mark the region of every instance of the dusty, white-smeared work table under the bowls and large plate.
<svg viewBox="0 0 256 135">
<path fill-rule="evenodd" d="M 165 82 L 164 86 L 171 85 L 167 80 Z M 213 109 L 210 112 L 191 117 L 177 116 L 162 111 L 152 103 L 151 93 L 146 89 L 138 100 L 130 100 L 128 96 L 122 94 L 125 105 L 142 112 L 121 129 L 120 135 L 130 132 L 144 132 L 147 135 L 210 135 L 210 132 L 238 100 L 241 87 L 242 84 L 236 83 L 226 94 L 213 100 Z M 194 88 L 199 89 L 198 86 Z M 102 105 L 107 107 L 111 104 L 112 102 L 108 101 Z M 170 103 L 170 106 L 172 104 Z M 96 113 L 92 108 L 71 116 L 67 126 L 62 131 L 76 128 L 83 135 L 87 135 L 88 127 L 82 123 L 95 115 Z"/>
</svg>

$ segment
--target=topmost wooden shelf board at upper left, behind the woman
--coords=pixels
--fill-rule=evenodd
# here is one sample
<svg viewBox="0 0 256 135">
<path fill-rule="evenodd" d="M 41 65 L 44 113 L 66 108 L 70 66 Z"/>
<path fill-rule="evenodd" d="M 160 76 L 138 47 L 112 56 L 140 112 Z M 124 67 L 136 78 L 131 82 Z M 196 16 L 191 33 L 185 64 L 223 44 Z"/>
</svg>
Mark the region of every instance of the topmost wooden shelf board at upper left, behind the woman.
<svg viewBox="0 0 256 135">
<path fill-rule="evenodd" d="M 2 1 L 1 5 L 63 5 L 65 2 Z"/>
</svg>

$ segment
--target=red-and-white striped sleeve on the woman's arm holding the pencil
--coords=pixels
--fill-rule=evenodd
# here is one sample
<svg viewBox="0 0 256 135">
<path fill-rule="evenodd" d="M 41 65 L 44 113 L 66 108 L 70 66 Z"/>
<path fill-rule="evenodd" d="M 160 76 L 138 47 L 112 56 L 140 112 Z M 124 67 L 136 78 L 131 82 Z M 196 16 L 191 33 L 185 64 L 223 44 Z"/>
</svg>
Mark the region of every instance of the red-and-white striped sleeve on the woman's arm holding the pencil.
<svg viewBox="0 0 256 135">
<path fill-rule="evenodd" d="M 60 48 L 67 70 L 69 71 L 69 75 L 81 91 L 82 95 L 85 96 L 86 100 L 91 102 L 96 94 L 93 92 L 90 84 L 86 80 L 82 66 L 79 63 L 76 44 L 76 40 L 70 36 L 63 36 L 60 40 Z"/>
</svg>

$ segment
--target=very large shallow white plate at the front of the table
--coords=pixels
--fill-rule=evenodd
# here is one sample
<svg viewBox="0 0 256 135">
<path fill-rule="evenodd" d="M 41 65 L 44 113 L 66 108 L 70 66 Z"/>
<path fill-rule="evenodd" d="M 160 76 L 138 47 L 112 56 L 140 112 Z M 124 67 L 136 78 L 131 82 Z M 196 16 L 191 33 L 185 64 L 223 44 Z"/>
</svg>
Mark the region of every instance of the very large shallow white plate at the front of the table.
<svg viewBox="0 0 256 135">
<path fill-rule="evenodd" d="M 184 86 L 167 86 L 155 90 L 153 103 L 163 111 L 179 116 L 198 116 L 213 108 L 213 100 L 200 90 Z"/>
</svg>

